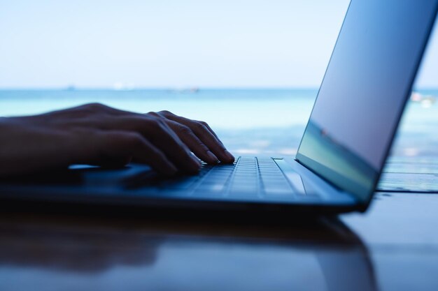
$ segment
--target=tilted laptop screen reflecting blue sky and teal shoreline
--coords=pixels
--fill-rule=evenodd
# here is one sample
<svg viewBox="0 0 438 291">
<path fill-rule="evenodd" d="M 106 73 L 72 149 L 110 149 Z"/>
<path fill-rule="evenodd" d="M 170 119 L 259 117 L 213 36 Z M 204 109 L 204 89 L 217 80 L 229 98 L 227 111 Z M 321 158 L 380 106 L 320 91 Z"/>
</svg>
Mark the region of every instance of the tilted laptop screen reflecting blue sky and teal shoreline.
<svg viewBox="0 0 438 291">
<path fill-rule="evenodd" d="M 352 0 L 297 160 L 367 202 L 437 14 L 438 0 Z"/>
</svg>

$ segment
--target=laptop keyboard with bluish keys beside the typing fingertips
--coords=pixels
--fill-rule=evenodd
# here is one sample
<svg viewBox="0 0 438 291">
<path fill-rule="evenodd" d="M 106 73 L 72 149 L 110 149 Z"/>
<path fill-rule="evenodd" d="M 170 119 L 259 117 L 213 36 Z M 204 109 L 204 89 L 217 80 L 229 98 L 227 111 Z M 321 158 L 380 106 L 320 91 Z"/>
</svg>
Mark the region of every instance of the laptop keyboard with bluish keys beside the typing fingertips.
<svg viewBox="0 0 438 291">
<path fill-rule="evenodd" d="M 199 175 L 166 181 L 165 188 L 190 195 L 293 197 L 295 191 L 272 158 L 239 157 L 230 165 L 203 164 Z"/>
</svg>

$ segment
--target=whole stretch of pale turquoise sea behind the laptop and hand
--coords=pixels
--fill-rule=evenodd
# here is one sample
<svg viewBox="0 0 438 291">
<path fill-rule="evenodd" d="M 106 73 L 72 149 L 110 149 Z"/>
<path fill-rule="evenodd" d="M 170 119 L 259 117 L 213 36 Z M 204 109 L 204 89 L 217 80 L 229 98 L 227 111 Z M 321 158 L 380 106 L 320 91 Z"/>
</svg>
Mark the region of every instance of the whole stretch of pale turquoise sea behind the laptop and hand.
<svg viewBox="0 0 438 291">
<path fill-rule="evenodd" d="M 418 93 L 405 111 L 393 156 L 438 156 L 438 89 Z M 91 102 L 133 112 L 170 110 L 208 122 L 234 154 L 292 156 L 316 94 L 316 89 L 0 90 L 0 116 Z"/>
</svg>

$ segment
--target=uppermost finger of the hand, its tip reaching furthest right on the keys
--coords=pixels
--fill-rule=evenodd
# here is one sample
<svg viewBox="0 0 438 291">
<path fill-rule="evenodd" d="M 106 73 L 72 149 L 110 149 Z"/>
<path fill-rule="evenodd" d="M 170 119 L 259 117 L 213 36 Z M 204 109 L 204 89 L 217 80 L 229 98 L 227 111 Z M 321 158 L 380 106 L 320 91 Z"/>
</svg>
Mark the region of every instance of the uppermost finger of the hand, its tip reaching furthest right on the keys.
<svg viewBox="0 0 438 291">
<path fill-rule="evenodd" d="M 233 163 L 234 156 L 225 149 L 225 146 L 216 138 L 209 128 L 207 128 L 204 124 L 199 121 L 194 121 L 191 119 L 187 119 L 185 117 L 179 117 L 171 112 L 162 111 L 159 112 L 163 117 L 170 119 L 172 121 L 176 121 L 180 124 L 188 126 L 195 135 L 201 140 L 212 152 L 217 156 L 221 162 L 224 163 Z"/>
</svg>

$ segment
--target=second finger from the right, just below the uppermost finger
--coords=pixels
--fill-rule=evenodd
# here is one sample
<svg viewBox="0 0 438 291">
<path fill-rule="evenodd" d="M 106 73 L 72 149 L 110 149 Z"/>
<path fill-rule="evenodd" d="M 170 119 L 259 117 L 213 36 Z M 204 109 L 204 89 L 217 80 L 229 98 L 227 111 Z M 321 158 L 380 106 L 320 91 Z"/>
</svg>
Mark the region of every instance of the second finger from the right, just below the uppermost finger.
<svg viewBox="0 0 438 291">
<path fill-rule="evenodd" d="M 199 140 L 197 135 L 193 131 L 183 124 L 179 124 L 176 121 L 167 119 L 167 125 L 174 130 L 176 135 L 181 138 L 181 140 L 189 147 L 190 151 L 193 152 L 198 158 L 206 163 L 217 164 L 219 163 L 218 157 L 216 157 L 208 147 Z"/>
</svg>

